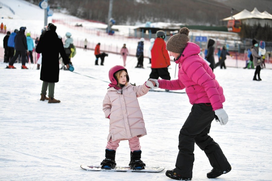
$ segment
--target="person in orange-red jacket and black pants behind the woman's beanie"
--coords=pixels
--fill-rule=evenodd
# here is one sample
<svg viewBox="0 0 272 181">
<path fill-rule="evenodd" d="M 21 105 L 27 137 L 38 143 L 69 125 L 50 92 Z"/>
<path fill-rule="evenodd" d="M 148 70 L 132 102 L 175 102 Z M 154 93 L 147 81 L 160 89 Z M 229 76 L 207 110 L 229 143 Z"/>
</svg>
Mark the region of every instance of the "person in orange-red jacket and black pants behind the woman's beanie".
<svg viewBox="0 0 272 181">
<path fill-rule="evenodd" d="M 163 31 L 157 31 L 156 40 L 151 49 L 151 73 L 149 79 L 159 79 L 161 77 L 165 80 L 170 80 L 170 73 L 168 72 L 168 66 L 170 65 L 169 53 L 166 50 L 166 44 L 164 42 L 165 33 Z"/>
</svg>

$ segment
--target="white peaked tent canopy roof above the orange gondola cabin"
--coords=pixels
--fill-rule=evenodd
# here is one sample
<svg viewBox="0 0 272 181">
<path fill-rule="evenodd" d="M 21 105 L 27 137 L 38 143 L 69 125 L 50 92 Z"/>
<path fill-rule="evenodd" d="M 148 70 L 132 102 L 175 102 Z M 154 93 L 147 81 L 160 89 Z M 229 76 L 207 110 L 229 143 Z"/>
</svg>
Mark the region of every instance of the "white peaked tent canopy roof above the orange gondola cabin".
<svg viewBox="0 0 272 181">
<path fill-rule="evenodd" d="M 232 17 L 224 18 L 222 21 L 228 21 L 231 19 L 251 19 L 251 18 L 257 18 L 257 19 L 272 19 L 272 15 L 269 14 L 267 11 L 260 12 L 257 10 L 257 8 L 254 8 L 253 11 L 247 11 L 244 9 L 243 11 L 237 13 L 236 15 L 233 15 Z"/>
</svg>

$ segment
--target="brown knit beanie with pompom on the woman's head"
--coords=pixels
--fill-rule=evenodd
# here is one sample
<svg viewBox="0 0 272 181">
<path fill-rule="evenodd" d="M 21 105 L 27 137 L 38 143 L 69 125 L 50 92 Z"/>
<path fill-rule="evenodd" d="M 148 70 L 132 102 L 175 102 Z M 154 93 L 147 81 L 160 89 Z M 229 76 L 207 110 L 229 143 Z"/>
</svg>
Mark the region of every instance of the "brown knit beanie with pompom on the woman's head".
<svg viewBox="0 0 272 181">
<path fill-rule="evenodd" d="M 166 50 L 174 53 L 182 53 L 190 39 L 188 37 L 189 32 L 190 30 L 187 27 L 181 28 L 178 34 L 169 38 L 166 43 Z"/>
</svg>

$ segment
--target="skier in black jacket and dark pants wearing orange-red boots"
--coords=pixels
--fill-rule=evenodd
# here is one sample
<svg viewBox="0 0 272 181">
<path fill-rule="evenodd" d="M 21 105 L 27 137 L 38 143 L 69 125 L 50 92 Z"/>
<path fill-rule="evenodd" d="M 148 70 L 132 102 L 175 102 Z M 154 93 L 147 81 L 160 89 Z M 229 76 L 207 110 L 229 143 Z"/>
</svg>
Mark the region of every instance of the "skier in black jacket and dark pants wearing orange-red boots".
<svg viewBox="0 0 272 181">
<path fill-rule="evenodd" d="M 22 57 L 22 69 L 28 69 L 25 66 L 26 62 L 26 52 L 28 49 L 28 45 L 26 43 L 26 36 L 25 36 L 25 30 L 26 27 L 20 27 L 20 30 L 18 31 L 18 34 L 15 35 L 14 38 L 14 49 L 15 49 L 15 55 L 12 57 L 12 59 L 9 62 L 9 65 L 7 68 L 9 69 L 15 69 L 13 64 L 15 63 L 15 60 L 18 58 L 19 55 Z"/>
</svg>

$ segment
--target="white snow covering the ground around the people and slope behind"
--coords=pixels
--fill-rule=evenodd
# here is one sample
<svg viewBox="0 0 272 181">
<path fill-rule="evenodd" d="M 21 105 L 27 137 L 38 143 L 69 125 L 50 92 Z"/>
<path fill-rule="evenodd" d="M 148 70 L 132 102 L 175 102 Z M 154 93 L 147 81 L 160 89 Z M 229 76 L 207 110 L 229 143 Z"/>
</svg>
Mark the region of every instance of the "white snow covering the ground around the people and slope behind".
<svg viewBox="0 0 272 181">
<path fill-rule="evenodd" d="M 23 1 L 11 2 L 17 6 Z M 20 7 L 25 9 L 23 4 Z M 15 13 L 23 14 L 19 10 Z M 14 18 L 12 22 L 19 28 L 24 26 L 23 22 L 32 21 Z M 57 33 L 65 34 L 63 25 L 56 25 Z M 0 39 L 3 37 L 1 34 Z M 92 38 L 100 37 L 92 35 Z M 88 172 L 80 168 L 80 164 L 100 165 L 104 159 L 109 129 L 102 111 L 108 88 L 104 81 L 109 81 L 108 71 L 112 66 L 122 65 L 120 55 L 109 53 L 104 66 L 95 66 L 93 53 L 78 48 L 72 59 L 74 72 L 60 71 L 54 94 L 61 100 L 59 104 L 39 100 L 42 81 L 35 67 L 20 69 L 21 64 L 15 63 L 17 69 L 5 69 L 7 64 L 0 63 L 0 180 L 170 180 L 165 171 L 175 167 L 179 131 L 192 107 L 186 94 L 148 92 L 138 99 L 147 130 L 147 135 L 140 138 L 142 160 L 147 166 L 163 166 L 164 171 Z M 136 57 L 127 58 L 131 83 L 140 85 L 149 78 L 148 62 L 144 59 L 145 69 L 136 69 Z M 171 64 L 169 72 L 175 79 L 175 63 Z M 235 65 L 235 60 L 228 59 L 226 64 Z M 222 148 L 232 170 L 212 180 L 272 180 L 272 73 L 270 69 L 262 69 L 262 81 L 258 82 L 252 80 L 254 71 L 233 67 L 214 70 L 224 89 L 223 105 L 229 122 L 221 126 L 213 121 L 210 136 Z M 128 142 L 121 141 L 116 152 L 117 166 L 129 164 L 129 152 Z M 206 177 L 211 169 L 204 152 L 195 146 L 192 180 L 211 180 Z"/>
</svg>

